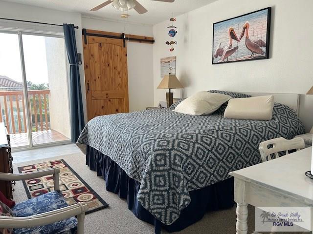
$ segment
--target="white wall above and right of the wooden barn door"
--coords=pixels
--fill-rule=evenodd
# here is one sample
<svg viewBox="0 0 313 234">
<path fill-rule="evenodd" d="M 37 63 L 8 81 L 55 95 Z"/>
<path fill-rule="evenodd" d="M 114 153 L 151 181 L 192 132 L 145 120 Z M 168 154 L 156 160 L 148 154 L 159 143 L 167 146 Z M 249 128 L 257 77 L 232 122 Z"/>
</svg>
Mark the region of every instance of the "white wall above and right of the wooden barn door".
<svg viewBox="0 0 313 234">
<path fill-rule="evenodd" d="M 82 18 L 86 29 L 123 33 L 123 23 Z M 129 24 L 125 33 L 152 37 L 152 25 Z M 127 42 L 128 92 L 130 111 L 144 110 L 153 105 L 153 45 Z"/>
</svg>

